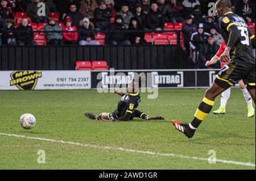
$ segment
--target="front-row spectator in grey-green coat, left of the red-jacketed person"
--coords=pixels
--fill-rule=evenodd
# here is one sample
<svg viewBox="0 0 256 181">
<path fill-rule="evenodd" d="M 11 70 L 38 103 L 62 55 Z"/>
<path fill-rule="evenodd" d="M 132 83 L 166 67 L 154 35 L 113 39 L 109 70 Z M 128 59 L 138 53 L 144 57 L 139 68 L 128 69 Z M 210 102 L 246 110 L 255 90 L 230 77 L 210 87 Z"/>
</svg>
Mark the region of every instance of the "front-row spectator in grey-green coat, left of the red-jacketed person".
<svg viewBox="0 0 256 181">
<path fill-rule="evenodd" d="M 63 36 L 61 35 L 62 28 L 55 23 L 55 19 L 49 18 L 49 23 L 44 26 L 44 31 L 60 31 L 46 32 L 48 45 L 63 45 Z"/>
</svg>

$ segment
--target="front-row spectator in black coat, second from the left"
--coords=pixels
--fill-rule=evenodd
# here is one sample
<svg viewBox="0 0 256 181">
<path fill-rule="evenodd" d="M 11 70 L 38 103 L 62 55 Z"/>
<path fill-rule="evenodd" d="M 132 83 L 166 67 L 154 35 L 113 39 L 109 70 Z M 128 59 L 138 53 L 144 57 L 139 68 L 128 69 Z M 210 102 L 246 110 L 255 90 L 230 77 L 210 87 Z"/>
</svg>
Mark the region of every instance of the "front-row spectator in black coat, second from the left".
<svg viewBox="0 0 256 181">
<path fill-rule="evenodd" d="M 16 29 L 16 41 L 18 45 L 37 45 L 34 39 L 32 27 L 28 25 L 27 18 L 22 19 L 22 23 Z"/>
</svg>

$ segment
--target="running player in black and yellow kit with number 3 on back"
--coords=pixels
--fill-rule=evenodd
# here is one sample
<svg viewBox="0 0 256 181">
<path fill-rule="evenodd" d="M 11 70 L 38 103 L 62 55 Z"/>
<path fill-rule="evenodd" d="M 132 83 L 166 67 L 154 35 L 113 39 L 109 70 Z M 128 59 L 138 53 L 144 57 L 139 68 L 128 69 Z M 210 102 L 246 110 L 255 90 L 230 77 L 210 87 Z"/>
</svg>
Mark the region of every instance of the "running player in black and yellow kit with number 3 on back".
<svg viewBox="0 0 256 181">
<path fill-rule="evenodd" d="M 230 61 L 210 88 L 205 92 L 203 102 L 199 105 L 194 119 L 189 124 L 173 120 L 175 128 L 188 138 L 193 137 L 196 129 L 212 110 L 215 98 L 241 79 L 255 103 L 255 36 L 251 33 L 245 20 L 231 11 L 230 0 L 216 2 L 217 15 L 220 18 L 221 34 L 226 48 L 220 59 Z"/>
</svg>

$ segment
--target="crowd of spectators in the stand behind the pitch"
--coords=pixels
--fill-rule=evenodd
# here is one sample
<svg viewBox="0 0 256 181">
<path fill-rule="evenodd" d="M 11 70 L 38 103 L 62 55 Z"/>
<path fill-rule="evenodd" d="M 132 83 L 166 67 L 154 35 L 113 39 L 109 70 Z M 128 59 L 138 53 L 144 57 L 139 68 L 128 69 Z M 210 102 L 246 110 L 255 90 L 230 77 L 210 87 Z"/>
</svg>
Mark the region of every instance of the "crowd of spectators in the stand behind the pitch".
<svg viewBox="0 0 256 181">
<path fill-rule="evenodd" d="M 220 27 L 214 16 L 208 16 L 210 0 L 0 0 L 0 45 L 35 45 L 35 33 L 29 25 L 46 23 L 49 45 L 100 45 L 94 32 L 110 31 L 106 42 L 112 45 L 145 44 L 144 31 L 164 30 L 167 22 L 183 23 L 184 48 L 200 52 L 200 59 L 209 57 L 218 50 L 223 41 Z M 46 14 L 39 15 L 44 2 Z M 233 0 L 233 11 L 246 22 L 255 22 L 255 1 Z M 50 12 L 59 12 L 64 26 L 49 17 Z M 15 12 L 26 12 L 16 26 Z M 112 22 L 112 18 L 114 20 Z M 16 31 L 16 32 L 15 32 Z M 52 32 L 51 32 L 52 31 Z M 63 31 L 63 32 L 61 32 Z M 130 32 L 129 32 L 130 31 Z M 138 31 L 138 32 L 134 32 Z M 203 65 L 203 64 L 202 64 Z"/>
</svg>

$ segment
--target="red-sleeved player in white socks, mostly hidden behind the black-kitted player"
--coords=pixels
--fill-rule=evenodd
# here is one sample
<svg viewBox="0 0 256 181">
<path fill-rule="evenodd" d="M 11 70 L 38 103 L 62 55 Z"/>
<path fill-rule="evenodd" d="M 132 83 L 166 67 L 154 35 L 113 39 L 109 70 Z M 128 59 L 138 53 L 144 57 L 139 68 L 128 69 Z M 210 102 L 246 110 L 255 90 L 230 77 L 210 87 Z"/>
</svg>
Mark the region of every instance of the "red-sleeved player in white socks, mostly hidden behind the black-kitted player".
<svg viewBox="0 0 256 181">
<path fill-rule="evenodd" d="M 216 64 L 216 62 L 218 60 L 220 60 L 220 56 L 224 52 L 225 48 L 226 48 L 226 43 L 225 43 L 225 41 L 223 41 L 223 43 L 221 44 L 221 47 L 218 50 L 218 52 L 216 53 L 216 55 L 214 57 L 212 57 L 212 59 L 210 61 L 207 61 L 205 66 L 210 66 L 212 64 Z M 248 90 L 246 89 L 245 84 L 243 83 L 242 80 L 239 81 L 239 85 L 243 92 L 243 98 L 245 98 L 245 101 L 247 103 L 247 110 L 248 110 L 247 117 L 253 117 L 254 116 L 254 108 L 253 108 L 253 100 L 251 99 L 251 95 L 248 92 Z M 229 89 L 222 92 L 221 105 L 218 108 L 218 110 L 213 111 L 213 113 L 215 115 L 223 115 L 226 113 L 226 103 L 228 102 L 228 99 L 230 98 L 230 92 L 231 92 L 231 87 L 229 87 Z"/>
</svg>

